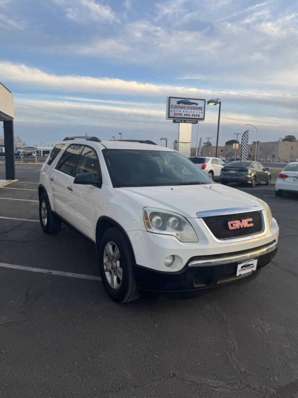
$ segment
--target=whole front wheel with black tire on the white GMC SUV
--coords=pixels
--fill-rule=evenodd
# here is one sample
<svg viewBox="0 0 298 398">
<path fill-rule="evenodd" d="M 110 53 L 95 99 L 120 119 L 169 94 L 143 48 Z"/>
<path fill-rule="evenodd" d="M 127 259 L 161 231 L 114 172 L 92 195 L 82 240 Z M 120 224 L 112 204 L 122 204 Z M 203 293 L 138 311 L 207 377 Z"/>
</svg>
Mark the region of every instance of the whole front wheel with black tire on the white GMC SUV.
<svg viewBox="0 0 298 398">
<path fill-rule="evenodd" d="M 102 283 L 110 298 L 122 302 L 139 298 L 133 254 L 123 232 L 118 228 L 106 230 L 100 241 L 98 255 Z"/>
</svg>

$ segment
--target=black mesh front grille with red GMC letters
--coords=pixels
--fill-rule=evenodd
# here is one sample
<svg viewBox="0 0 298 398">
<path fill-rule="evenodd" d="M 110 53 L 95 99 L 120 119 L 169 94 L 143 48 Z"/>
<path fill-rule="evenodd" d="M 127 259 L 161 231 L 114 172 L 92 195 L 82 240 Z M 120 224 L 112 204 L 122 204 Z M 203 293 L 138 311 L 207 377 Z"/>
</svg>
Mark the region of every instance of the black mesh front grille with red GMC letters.
<svg viewBox="0 0 298 398">
<path fill-rule="evenodd" d="M 246 220 L 252 218 L 252 227 L 240 227 L 229 229 L 229 221 Z M 253 235 L 260 233 L 263 229 L 263 220 L 261 211 L 250 211 L 245 213 L 214 215 L 211 217 L 203 217 L 204 222 L 217 239 L 233 239 L 245 235 Z"/>
</svg>

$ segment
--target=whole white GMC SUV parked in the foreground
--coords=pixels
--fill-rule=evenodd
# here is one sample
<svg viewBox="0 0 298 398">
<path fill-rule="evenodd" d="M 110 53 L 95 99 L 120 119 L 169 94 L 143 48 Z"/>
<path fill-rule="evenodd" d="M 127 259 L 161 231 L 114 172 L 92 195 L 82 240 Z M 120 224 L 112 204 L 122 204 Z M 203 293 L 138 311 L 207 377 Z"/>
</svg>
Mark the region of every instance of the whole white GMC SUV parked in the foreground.
<svg viewBox="0 0 298 398">
<path fill-rule="evenodd" d="M 275 256 L 279 228 L 261 199 L 220 184 L 153 144 L 66 137 L 42 166 L 42 229 L 74 226 L 98 250 L 116 301 L 139 289 L 193 291 L 237 281 Z"/>
</svg>

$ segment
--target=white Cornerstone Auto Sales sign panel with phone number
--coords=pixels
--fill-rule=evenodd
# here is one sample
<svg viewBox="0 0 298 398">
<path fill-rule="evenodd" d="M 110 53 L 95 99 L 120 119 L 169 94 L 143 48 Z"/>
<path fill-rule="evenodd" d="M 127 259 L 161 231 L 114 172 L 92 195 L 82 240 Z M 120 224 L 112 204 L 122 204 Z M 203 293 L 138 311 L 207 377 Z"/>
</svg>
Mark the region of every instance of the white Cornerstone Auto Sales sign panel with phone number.
<svg viewBox="0 0 298 398">
<path fill-rule="evenodd" d="M 198 100 L 184 97 L 167 97 L 166 101 L 166 118 L 172 120 L 199 121 L 205 119 L 206 100 Z M 176 121 L 177 123 L 177 121 Z"/>
</svg>

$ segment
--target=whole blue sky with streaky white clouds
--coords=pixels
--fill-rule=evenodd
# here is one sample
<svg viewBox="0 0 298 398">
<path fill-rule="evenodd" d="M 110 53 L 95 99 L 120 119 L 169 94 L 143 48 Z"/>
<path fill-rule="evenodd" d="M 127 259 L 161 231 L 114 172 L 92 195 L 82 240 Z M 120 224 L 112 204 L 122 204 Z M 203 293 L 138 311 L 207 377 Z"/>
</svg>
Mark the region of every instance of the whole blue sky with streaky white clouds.
<svg viewBox="0 0 298 398">
<path fill-rule="evenodd" d="M 261 141 L 298 137 L 297 0 L 0 0 L 0 43 L 27 144 L 141 130 L 172 146 L 166 96 L 221 99 L 221 145 L 246 124 Z M 206 108 L 203 141 L 216 141 L 218 108 Z"/>
</svg>

